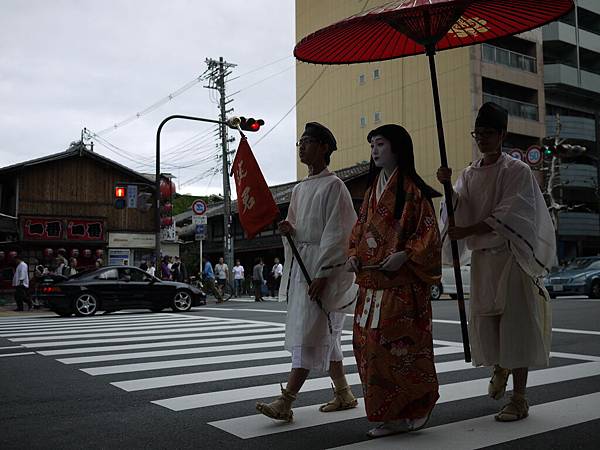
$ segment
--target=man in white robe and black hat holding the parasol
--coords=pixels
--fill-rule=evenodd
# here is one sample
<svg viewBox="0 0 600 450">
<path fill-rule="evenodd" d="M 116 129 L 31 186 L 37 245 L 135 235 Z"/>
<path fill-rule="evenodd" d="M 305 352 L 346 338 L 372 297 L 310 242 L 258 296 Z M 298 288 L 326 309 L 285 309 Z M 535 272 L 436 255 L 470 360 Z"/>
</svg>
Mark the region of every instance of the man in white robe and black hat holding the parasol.
<svg viewBox="0 0 600 450">
<path fill-rule="evenodd" d="M 528 368 L 548 365 L 551 309 L 541 277 L 556 259 L 554 227 L 531 169 L 502 152 L 507 124 L 500 106 L 481 107 L 472 135 L 483 158 L 454 186 L 455 227 L 442 209 L 444 262 L 452 261 L 450 238 L 459 240 L 461 252 L 472 251 L 473 364 L 494 367 L 488 393 L 496 400 L 513 375 L 513 395 L 495 416 L 505 422 L 527 417 Z M 451 174 L 440 168 L 438 180 L 450 181 Z"/>
</svg>

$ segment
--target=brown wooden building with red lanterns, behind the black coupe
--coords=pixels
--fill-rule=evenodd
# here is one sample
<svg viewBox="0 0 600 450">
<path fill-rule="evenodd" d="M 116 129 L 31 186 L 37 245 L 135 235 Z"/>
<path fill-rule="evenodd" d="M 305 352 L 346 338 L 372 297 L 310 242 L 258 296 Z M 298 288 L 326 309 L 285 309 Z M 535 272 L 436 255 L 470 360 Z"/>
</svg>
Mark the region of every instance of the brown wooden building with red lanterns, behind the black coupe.
<svg viewBox="0 0 600 450">
<path fill-rule="evenodd" d="M 135 264 L 153 254 L 154 207 L 137 207 L 153 183 L 80 143 L 0 168 L 0 256 L 16 251 L 30 264 L 51 266 L 64 250 L 80 267 L 98 258 Z M 117 185 L 132 186 L 123 209 L 115 207 Z"/>
</svg>

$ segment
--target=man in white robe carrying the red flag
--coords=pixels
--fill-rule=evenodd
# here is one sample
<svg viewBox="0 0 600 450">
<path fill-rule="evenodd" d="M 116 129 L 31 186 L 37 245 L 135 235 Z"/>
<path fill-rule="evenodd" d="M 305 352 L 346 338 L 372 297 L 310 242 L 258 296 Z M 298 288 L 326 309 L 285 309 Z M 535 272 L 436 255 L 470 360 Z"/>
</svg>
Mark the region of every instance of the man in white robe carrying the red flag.
<svg viewBox="0 0 600 450">
<path fill-rule="evenodd" d="M 357 293 L 354 274 L 344 268 L 356 212 L 342 180 L 327 169 L 336 150 L 333 134 L 321 124 L 309 122 L 297 145 L 309 176 L 294 187 L 287 218 L 279 230 L 293 237 L 312 282 L 309 286 L 284 238 L 279 295 L 288 301 L 285 348 L 292 354 L 292 370 L 279 398 L 256 405 L 262 414 L 288 422 L 293 416 L 291 404 L 310 370 L 328 371 L 335 386 L 334 399 L 321 411 L 357 405 L 344 375 L 341 347 L 345 314 L 352 311 Z"/>
</svg>

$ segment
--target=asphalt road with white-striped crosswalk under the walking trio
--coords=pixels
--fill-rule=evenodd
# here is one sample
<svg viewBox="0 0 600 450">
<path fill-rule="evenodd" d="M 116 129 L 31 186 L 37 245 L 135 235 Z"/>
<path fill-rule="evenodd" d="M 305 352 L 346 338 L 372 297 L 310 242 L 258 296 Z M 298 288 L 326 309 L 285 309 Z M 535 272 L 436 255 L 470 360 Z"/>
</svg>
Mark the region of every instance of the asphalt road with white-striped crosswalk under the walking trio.
<svg viewBox="0 0 600 450">
<path fill-rule="evenodd" d="M 305 385 L 292 424 L 255 413 L 289 370 L 284 303 L 0 317 L 0 448 L 600 448 L 600 300 L 553 301 L 551 366 L 530 374 L 530 417 L 511 424 L 493 420 L 502 403 L 486 397 L 488 370 L 462 361 L 456 302 L 433 311 L 441 399 L 426 429 L 374 441 L 361 405 L 318 411 L 331 397 L 324 374 Z"/>
</svg>

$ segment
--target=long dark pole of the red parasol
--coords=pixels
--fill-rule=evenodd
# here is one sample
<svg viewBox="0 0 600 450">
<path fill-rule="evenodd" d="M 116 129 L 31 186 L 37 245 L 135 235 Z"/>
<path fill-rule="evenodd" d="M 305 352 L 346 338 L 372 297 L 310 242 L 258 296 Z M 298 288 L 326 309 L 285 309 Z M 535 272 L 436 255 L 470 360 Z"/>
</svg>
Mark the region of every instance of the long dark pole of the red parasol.
<svg viewBox="0 0 600 450">
<path fill-rule="evenodd" d="M 442 167 L 448 167 L 448 158 L 446 156 L 446 141 L 444 139 L 444 127 L 442 124 L 442 108 L 440 107 L 440 93 L 438 91 L 437 73 L 435 69 L 435 44 L 426 46 L 426 54 L 429 58 L 429 71 L 431 72 L 431 87 L 433 90 L 433 103 L 435 106 L 435 122 L 438 132 L 438 143 L 440 147 L 440 160 Z M 444 199 L 446 201 L 446 211 L 448 213 L 448 226 L 454 224 L 454 206 L 452 204 L 452 183 L 444 183 Z M 462 285 L 462 276 L 460 273 L 460 259 L 458 256 L 458 244 L 455 240 L 450 240 L 452 248 L 452 265 L 454 266 L 454 278 L 456 279 L 456 296 L 458 298 L 458 313 L 460 316 L 460 330 L 462 332 L 463 350 L 465 361 L 471 362 L 471 348 L 469 346 L 469 332 L 467 330 L 467 315 L 465 313 L 465 294 Z"/>
</svg>

